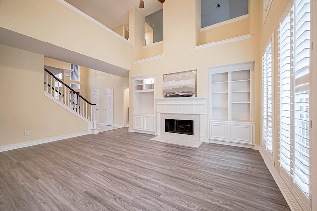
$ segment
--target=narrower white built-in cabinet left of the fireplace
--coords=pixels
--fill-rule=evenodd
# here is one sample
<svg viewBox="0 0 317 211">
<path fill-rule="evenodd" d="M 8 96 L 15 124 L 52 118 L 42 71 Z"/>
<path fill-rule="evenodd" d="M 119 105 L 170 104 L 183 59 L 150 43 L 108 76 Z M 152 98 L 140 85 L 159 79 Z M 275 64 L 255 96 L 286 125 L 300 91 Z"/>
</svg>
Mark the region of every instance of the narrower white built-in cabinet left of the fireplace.
<svg viewBox="0 0 317 211">
<path fill-rule="evenodd" d="M 133 80 L 133 130 L 155 132 L 154 85 L 156 74 L 132 77 Z"/>
</svg>

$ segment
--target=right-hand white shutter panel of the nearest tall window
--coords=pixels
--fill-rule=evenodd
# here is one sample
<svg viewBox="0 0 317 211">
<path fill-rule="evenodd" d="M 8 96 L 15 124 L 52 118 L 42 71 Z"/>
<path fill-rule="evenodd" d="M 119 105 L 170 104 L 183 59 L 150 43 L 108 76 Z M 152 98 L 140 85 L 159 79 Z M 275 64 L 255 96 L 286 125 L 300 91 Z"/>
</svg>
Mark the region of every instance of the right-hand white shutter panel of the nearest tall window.
<svg viewBox="0 0 317 211">
<path fill-rule="evenodd" d="M 294 4 L 294 182 L 308 196 L 310 1 L 295 0 Z"/>
</svg>

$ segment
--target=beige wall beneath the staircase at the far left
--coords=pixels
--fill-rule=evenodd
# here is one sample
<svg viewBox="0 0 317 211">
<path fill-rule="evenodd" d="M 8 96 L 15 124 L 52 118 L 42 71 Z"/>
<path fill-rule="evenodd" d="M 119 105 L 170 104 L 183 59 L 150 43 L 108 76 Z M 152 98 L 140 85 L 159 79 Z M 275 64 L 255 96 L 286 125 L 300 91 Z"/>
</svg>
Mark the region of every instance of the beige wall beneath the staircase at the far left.
<svg viewBox="0 0 317 211">
<path fill-rule="evenodd" d="M 1 45 L 0 68 L 0 146 L 88 131 L 85 121 L 44 96 L 42 55 Z"/>
</svg>

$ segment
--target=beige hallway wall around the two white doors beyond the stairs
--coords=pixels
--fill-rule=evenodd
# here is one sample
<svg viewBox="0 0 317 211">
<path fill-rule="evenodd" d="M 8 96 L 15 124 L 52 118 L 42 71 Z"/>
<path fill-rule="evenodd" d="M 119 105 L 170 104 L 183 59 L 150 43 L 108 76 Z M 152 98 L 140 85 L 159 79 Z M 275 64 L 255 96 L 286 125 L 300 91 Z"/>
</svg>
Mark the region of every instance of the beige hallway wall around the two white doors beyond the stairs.
<svg viewBox="0 0 317 211">
<path fill-rule="evenodd" d="M 113 89 L 113 124 L 124 126 L 124 88 L 129 87 L 128 76 L 115 76 L 88 69 L 88 99 L 99 90 L 99 122 L 105 123 L 105 90 Z"/>
</svg>

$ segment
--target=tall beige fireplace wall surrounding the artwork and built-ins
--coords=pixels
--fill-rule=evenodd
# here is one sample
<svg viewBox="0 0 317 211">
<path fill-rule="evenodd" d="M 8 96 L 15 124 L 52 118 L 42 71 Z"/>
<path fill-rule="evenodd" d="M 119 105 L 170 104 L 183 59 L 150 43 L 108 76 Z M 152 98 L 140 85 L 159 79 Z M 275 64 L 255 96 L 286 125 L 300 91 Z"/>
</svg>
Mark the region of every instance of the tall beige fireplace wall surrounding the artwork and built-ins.
<svg viewBox="0 0 317 211">
<path fill-rule="evenodd" d="M 254 79 L 257 81 L 261 76 L 261 60 L 259 57 L 259 23 L 261 22 L 259 9 L 260 1 L 250 2 L 250 17 L 247 19 L 250 31 L 253 33 L 251 39 L 216 45 L 204 49 L 195 50 L 197 33 L 196 24 L 199 21 L 196 19 L 196 12 L 200 6 L 195 0 L 182 1 L 165 1 L 164 3 L 164 44 L 163 51 L 164 57 L 150 60 L 142 63 L 132 64 L 129 77 L 157 73 L 156 76 L 156 96 L 155 98 L 162 98 L 162 80 L 163 74 L 174 73 L 186 70 L 197 69 L 197 96 L 209 96 L 209 81 L 208 69 L 210 67 L 235 64 L 247 61 L 255 61 Z M 177 15 L 175 15 L 175 11 Z M 131 18 L 131 17 L 130 17 Z M 134 19 L 132 21 L 138 21 Z M 232 23 L 233 25 L 235 23 Z M 236 22 L 239 26 L 240 22 Z M 137 24 L 135 24 L 137 25 Z M 235 27 L 238 30 L 237 35 L 245 34 L 245 28 Z M 240 31 L 239 31 L 240 30 Z M 228 38 L 228 30 L 223 27 L 215 28 L 212 30 L 218 37 Z M 130 31 L 131 42 L 135 45 L 138 41 L 134 41 Z M 209 36 L 212 36 L 211 34 Z M 137 39 L 137 36 L 135 36 Z M 207 38 L 206 38 L 207 39 Z M 213 38 L 208 38 L 212 40 Z M 138 50 L 137 47 L 134 47 Z M 138 52 L 135 52 L 136 54 Z M 130 79 L 130 120 L 133 108 L 132 98 L 133 84 Z M 254 90 L 254 120 L 256 124 L 256 140 L 255 143 L 260 143 L 260 87 L 255 86 Z M 261 93 L 261 92 L 260 92 Z M 208 111 L 209 112 L 209 111 Z M 133 122 L 130 121 L 130 128 L 133 128 Z M 207 135 L 207 134 L 206 134 Z M 206 136 L 207 137 L 207 136 Z"/>
</svg>

